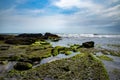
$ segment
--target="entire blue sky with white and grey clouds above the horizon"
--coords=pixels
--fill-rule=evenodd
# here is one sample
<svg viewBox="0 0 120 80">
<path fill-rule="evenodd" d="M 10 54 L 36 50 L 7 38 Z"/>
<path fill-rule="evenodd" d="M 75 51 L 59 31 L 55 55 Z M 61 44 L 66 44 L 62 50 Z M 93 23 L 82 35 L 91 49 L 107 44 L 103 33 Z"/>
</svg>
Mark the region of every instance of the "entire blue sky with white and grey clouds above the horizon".
<svg viewBox="0 0 120 80">
<path fill-rule="evenodd" d="M 0 0 L 0 33 L 120 34 L 120 0 Z"/>
</svg>

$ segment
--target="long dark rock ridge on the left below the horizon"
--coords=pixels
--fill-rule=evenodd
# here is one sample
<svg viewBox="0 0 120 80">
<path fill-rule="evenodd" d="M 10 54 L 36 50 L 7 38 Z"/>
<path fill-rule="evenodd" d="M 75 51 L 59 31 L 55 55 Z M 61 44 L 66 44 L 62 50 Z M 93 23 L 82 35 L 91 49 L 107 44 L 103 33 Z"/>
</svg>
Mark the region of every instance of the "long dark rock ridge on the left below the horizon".
<svg viewBox="0 0 120 80">
<path fill-rule="evenodd" d="M 5 41 L 6 44 L 20 44 L 20 45 L 30 45 L 37 40 L 51 40 L 51 41 L 59 41 L 61 39 L 60 36 L 52 33 L 45 33 L 44 35 L 41 33 L 38 34 L 19 34 L 15 35 L 0 35 L 0 40 Z"/>
</svg>

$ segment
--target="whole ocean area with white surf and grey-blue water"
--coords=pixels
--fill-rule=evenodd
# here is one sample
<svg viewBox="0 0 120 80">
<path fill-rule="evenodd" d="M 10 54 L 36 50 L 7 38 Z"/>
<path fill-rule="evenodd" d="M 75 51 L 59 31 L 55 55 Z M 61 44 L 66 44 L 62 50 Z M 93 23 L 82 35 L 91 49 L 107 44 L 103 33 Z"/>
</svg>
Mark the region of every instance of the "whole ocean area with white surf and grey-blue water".
<svg viewBox="0 0 120 80">
<path fill-rule="evenodd" d="M 87 41 L 94 41 L 96 47 L 112 50 L 120 50 L 120 35 L 117 34 L 61 34 L 58 42 L 51 42 L 53 46 L 68 46 L 71 44 L 82 44 Z"/>
</svg>

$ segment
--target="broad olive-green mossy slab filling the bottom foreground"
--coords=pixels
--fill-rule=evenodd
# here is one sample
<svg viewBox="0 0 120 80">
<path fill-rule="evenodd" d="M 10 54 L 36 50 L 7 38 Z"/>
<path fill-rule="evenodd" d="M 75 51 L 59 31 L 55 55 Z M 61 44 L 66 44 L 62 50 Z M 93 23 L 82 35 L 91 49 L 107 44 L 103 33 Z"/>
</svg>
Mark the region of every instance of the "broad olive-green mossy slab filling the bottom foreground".
<svg viewBox="0 0 120 80">
<path fill-rule="evenodd" d="M 6 78 L 16 78 L 17 80 L 109 80 L 102 62 L 88 53 L 46 63 L 27 71 L 11 70 Z"/>
</svg>

